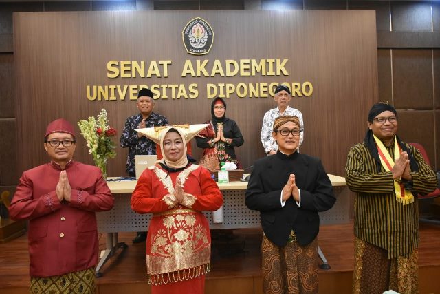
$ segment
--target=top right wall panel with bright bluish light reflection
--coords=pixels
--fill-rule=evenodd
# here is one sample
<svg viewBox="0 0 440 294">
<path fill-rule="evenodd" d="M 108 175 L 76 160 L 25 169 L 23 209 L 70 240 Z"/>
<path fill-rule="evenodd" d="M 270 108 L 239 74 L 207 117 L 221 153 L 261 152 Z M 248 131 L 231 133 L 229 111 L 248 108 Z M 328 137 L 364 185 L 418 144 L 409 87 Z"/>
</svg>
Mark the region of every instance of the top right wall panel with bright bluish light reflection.
<svg viewBox="0 0 440 294">
<path fill-rule="evenodd" d="M 393 31 L 430 31 L 431 1 L 391 1 Z"/>
</svg>

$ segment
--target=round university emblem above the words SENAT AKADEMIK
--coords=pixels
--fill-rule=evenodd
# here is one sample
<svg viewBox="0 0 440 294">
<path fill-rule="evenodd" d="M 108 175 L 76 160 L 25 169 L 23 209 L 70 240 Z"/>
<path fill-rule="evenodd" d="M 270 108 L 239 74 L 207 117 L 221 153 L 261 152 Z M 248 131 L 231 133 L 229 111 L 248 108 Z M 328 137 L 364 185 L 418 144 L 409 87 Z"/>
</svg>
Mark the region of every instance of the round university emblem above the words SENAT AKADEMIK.
<svg viewBox="0 0 440 294">
<path fill-rule="evenodd" d="M 190 20 L 181 32 L 186 52 L 194 55 L 208 54 L 214 42 L 214 30 L 211 25 L 196 17 Z"/>
</svg>

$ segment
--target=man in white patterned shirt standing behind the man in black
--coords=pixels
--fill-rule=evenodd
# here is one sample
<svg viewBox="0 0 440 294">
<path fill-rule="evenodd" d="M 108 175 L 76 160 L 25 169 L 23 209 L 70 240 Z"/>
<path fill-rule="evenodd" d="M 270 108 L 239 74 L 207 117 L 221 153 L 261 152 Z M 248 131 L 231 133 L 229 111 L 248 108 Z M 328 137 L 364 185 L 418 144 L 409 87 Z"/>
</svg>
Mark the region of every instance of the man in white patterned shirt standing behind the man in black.
<svg viewBox="0 0 440 294">
<path fill-rule="evenodd" d="M 289 101 L 292 99 L 290 90 L 285 85 L 278 85 L 275 89 L 274 101 L 276 101 L 277 107 L 270 109 L 264 114 L 263 125 L 261 126 L 261 143 L 263 144 L 264 151 L 267 155 L 276 154 L 278 145 L 272 137 L 272 126 L 274 120 L 278 116 L 297 116 L 300 120 L 301 135 L 300 145 L 304 139 L 304 121 L 303 114 L 298 109 L 289 107 Z M 299 149 L 299 146 L 298 146 Z"/>
</svg>

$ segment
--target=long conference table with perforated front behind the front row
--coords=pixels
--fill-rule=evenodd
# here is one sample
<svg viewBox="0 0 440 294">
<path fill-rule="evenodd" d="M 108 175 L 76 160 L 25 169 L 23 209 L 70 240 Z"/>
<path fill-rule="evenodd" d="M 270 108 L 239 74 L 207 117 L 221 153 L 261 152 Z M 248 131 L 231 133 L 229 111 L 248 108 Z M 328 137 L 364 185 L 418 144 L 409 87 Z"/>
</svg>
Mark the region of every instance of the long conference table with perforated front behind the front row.
<svg viewBox="0 0 440 294">
<path fill-rule="evenodd" d="M 335 175 L 328 175 L 333 185 L 333 192 L 336 195 L 336 203 L 332 209 L 320 214 L 320 224 L 343 224 L 350 219 L 349 189 L 345 178 Z M 139 214 L 131 210 L 131 193 L 136 187 L 137 180 L 118 180 L 119 178 L 108 178 L 107 185 L 115 198 L 115 204 L 110 211 L 96 214 L 98 231 L 107 233 L 106 250 L 101 254 L 100 262 L 96 266 L 96 276 L 100 277 L 100 269 L 118 249 L 125 249 L 125 243 L 118 242 L 118 232 L 147 231 L 148 222 L 153 216 L 152 213 Z M 123 179 L 123 178 L 122 178 Z M 245 205 L 245 190 L 248 182 L 229 182 L 220 184 L 219 189 L 223 194 L 222 222 L 214 222 L 212 212 L 204 211 L 208 218 L 210 229 L 245 229 L 260 228 L 260 212 L 252 211 Z M 219 211 L 221 213 L 221 211 Z M 218 215 L 217 215 L 218 216 Z M 215 220 L 218 220 L 216 217 Z M 326 260 L 323 260 L 325 263 Z"/>
</svg>

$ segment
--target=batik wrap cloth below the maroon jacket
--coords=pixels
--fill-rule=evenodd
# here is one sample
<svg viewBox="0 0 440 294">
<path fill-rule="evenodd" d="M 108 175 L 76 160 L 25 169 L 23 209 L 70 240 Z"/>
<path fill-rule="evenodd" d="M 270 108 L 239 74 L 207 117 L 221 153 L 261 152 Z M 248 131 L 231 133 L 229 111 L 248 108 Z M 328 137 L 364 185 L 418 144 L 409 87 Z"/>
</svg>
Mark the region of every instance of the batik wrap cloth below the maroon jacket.
<svg viewBox="0 0 440 294">
<path fill-rule="evenodd" d="M 94 294 L 96 288 L 95 268 L 55 275 L 31 277 L 31 294 Z"/>
</svg>

